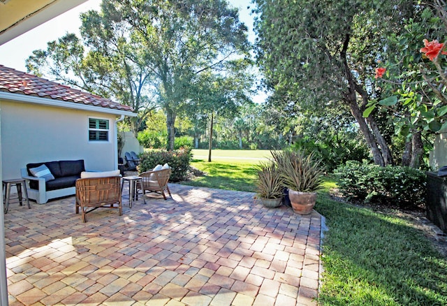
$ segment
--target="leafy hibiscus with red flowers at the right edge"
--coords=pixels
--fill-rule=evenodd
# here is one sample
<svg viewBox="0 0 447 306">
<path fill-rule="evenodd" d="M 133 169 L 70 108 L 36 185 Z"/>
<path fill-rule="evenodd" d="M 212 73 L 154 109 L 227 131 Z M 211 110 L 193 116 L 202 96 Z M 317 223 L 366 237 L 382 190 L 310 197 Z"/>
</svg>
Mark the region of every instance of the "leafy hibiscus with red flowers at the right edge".
<svg viewBox="0 0 447 306">
<path fill-rule="evenodd" d="M 379 69 L 386 73 L 379 75 L 377 86 L 385 98 L 365 110 L 365 116 L 372 110 L 393 113 L 396 132 L 404 138 L 402 165 L 414 168 L 432 134 L 447 129 L 446 3 L 436 0 L 418 8 L 404 20 L 405 31 L 391 36 L 383 48 Z"/>
</svg>

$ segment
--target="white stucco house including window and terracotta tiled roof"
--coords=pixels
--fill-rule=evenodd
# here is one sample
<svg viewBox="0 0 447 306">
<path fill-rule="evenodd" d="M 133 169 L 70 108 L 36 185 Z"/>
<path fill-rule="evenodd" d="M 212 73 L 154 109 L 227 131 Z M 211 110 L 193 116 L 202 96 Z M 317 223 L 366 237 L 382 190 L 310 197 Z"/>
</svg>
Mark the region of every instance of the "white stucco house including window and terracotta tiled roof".
<svg viewBox="0 0 447 306">
<path fill-rule="evenodd" d="M 0 65 L 2 179 L 45 161 L 84 159 L 86 170 L 116 170 L 117 122 L 135 115 L 129 105 Z"/>
</svg>

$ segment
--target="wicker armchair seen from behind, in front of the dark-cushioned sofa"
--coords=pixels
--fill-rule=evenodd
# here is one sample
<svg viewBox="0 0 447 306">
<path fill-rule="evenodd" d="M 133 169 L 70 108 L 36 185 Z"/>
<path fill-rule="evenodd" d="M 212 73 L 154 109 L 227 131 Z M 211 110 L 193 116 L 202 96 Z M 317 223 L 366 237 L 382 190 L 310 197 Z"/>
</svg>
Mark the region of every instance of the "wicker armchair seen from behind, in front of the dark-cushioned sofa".
<svg viewBox="0 0 447 306">
<path fill-rule="evenodd" d="M 76 180 L 76 214 L 82 211 L 82 221 L 86 214 L 97 208 L 113 208 L 123 214 L 121 200 L 121 177 L 91 177 Z"/>
</svg>

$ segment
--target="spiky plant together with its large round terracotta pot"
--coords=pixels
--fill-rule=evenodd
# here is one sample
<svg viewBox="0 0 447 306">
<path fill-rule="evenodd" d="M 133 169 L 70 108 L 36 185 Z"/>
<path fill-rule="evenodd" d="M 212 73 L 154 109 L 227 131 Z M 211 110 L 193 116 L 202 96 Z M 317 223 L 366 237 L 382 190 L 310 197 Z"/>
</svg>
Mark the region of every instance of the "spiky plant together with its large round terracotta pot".
<svg viewBox="0 0 447 306">
<path fill-rule="evenodd" d="M 272 156 L 281 172 L 284 186 L 288 188 L 293 211 L 310 214 L 316 203 L 316 191 L 323 187 L 321 161 L 303 151 L 272 152 Z"/>
</svg>

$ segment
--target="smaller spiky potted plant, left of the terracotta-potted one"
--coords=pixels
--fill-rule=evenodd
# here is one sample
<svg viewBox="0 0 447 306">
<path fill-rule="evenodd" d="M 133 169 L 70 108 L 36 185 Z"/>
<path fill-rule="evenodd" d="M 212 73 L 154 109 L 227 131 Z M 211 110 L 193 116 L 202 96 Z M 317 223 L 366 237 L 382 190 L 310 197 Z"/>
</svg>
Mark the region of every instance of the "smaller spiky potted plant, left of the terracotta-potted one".
<svg viewBox="0 0 447 306">
<path fill-rule="evenodd" d="M 265 207 L 278 207 L 281 205 L 284 182 L 276 163 L 261 162 L 258 165 L 256 189 L 258 198 Z"/>
</svg>

